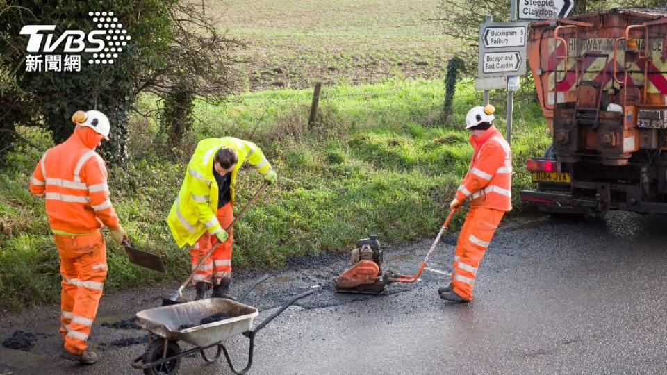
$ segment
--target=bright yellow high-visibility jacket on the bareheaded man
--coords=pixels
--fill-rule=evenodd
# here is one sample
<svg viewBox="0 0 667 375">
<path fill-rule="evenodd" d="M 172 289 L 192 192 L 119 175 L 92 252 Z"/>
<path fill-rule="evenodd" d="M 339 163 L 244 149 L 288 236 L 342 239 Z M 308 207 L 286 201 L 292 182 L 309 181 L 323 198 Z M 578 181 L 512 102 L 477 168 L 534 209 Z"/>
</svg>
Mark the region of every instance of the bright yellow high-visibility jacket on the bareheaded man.
<svg viewBox="0 0 667 375">
<path fill-rule="evenodd" d="M 234 149 L 238 154 L 238 163 L 231 172 L 232 203 L 236 174 L 245 160 L 254 165 L 262 175 L 272 170 L 262 150 L 252 142 L 232 137 L 201 140 L 190 158 L 183 185 L 167 216 L 167 224 L 179 247 L 186 244 L 192 246 L 204 231 L 211 235 L 224 231 L 215 217 L 218 191 L 213 176 L 213 158 L 221 147 Z"/>
</svg>

